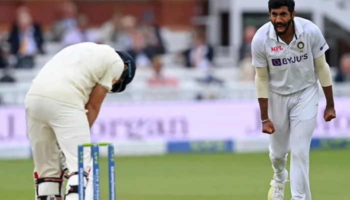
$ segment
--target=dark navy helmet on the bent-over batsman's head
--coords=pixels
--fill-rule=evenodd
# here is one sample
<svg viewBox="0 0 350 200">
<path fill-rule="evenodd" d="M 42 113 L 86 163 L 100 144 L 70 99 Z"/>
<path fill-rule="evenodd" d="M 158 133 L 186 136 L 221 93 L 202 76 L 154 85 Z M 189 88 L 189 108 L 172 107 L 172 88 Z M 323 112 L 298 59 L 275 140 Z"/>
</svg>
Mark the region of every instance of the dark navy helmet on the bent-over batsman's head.
<svg viewBox="0 0 350 200">
<path fill-rule="evenodd" d="M 121 50 L 116 50 L 115 52 L 118 53 L 118 55 L 124 61 L 124 64 L 126 64 L 127 68 L 125 68 L 121 73 L 120 81 L 112 85 L 112 89 L 109 91 L 111 93 L 124 91 L 126 85 L 132 81 L 136 71 L 135 60 L 133 60 L 131 55 Z"/>
</svg>

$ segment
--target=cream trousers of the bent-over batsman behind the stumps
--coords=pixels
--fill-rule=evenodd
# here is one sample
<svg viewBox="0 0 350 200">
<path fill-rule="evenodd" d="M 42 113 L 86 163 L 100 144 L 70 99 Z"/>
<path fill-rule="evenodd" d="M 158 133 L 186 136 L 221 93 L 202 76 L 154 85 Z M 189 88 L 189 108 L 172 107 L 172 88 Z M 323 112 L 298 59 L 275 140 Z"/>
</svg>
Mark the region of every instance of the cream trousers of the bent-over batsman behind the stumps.
<svg viewBox="0 0 350 200">
<path fill-rule="evenodd" d="M 61 176 L 57 142 L 63 151 L 69 172 L 77 171 L 77 146 L 90 142 L 90 128 L 84 110 L 39 95 L 27 95 L 24 106 L 27 135 L 38 177 Z M 90 148 L 85 148 L 85 171 L 89 169 L 90 157 Z M 47 189 L 53 190 L 41 189 L 45 189 L 39 191 L 41 194 L 47 193 Z M 52 192 L 56 193 L 56 190 Z"/>
</svg>

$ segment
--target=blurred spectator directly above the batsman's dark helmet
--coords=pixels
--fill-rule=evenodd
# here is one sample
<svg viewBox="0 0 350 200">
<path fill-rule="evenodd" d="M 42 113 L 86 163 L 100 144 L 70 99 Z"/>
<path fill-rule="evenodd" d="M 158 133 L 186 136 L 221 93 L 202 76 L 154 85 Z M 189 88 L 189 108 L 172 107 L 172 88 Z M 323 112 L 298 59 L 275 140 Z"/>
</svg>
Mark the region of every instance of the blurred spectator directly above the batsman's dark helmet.
<svg viewBox="0 0 350 200">
<path fill-rule="evenodd" d="M 118 37 L 116 48 L 127 51 L 135 60 L 138 67 L 150 65 L 150 60 L 145 53 L 145 38 L 142 31 L 137 28 L 136 18 L 130 15 L 121 20 L 124 32 Z"/>
</svg>

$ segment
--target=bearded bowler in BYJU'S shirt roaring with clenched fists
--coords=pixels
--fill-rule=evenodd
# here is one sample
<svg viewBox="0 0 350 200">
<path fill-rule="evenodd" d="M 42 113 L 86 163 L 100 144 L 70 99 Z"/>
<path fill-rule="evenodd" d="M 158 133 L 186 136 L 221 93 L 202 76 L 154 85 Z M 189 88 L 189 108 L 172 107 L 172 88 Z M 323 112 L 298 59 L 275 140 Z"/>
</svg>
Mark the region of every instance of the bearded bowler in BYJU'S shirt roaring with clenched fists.
<svg viewBox="0 0 350 200">
<path fill-rule="evenodd" d="M 318 110 L 317 80 L 326 98 L 324 120 L 335 118 L 324 56 L 328 44 L 314 23 L 295 17 L 294 6 L 294 0 L 269 0 L 270 22 L 257 30 L 251 43 L 262 132 L 269 134 L 274 171 L 268 200 L 283 199 L 289 147 L 291 199 L 311 200 L 309 148 Z"/>
</svg>

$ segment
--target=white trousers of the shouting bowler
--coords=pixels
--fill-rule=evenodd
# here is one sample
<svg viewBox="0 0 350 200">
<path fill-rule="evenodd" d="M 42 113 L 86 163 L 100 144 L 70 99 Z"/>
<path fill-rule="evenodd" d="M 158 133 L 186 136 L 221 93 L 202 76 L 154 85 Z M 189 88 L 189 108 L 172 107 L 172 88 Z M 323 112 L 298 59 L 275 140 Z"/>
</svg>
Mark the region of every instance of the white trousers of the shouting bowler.
<svg viewBox="0 0 350 200">
<path fill-rule="evenodd" d="M 290 147 L 291 200 L 311 200 L 309 150 L 317 111 L 318 83 L 289 95 L 269 92 L 268 114 L 275 128 L 269 136 L 269 157 L 275 179 L 283 181 Z"/>
</svg>

